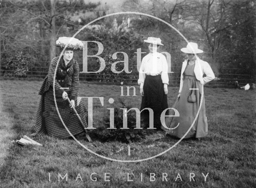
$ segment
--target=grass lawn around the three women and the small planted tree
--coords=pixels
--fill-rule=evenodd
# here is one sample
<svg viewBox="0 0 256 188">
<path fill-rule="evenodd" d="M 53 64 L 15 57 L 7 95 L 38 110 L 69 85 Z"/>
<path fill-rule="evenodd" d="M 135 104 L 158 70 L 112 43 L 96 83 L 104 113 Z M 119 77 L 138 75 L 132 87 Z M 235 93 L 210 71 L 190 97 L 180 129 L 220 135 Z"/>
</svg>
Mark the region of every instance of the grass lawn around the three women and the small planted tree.
<svg viewBox="0 0 256 188">
<path fill-rule="evenodd" d="M 91 154 L 72 139 L 36 137 L 35 140 L 42 143 L 43 147 L 22 147 L 11 143 L 11 140 L 34 132 L 41 83 L 0 80 L 1 188 L 256 187 L 255 90 L 205 87 L 209 130 L 205 138 L 201 141 L 182 140 L 169 152 L 151 160 L 124 163 Z M 172 106 L 178 88 L 168 89 L 168 102 Z M 138 86 L 136 94 L 137 96 L 124 98 L 133 107 L 139 108 L 141 97 Z M 99 100 L 94 101 L 95 126 L 102 123 L 106 112 L 109 113 L 106 108 L 112 108 L 108 99 L 122 98 L 119 85 L 88 82 L 81 83 L 80 96 L 104 97 L 103 107 Z M 148 158 L 163 152 L 178 141 L 170 136 L 164 137 L 159 131 L 151 132 L 145 139 L 130 144 L 100 142 L 95 137 L 92 143 L 84 138 L 78 140 L 97 154 L 118 160 Z M 66 173 L 67 176 L 62 180 L 60 176 L 64 177 Z M 190 173 L 194 173 L 194 181 L 190 181 Z M 202 173 L 208 174 L 206 182 Z"/>
</svg>

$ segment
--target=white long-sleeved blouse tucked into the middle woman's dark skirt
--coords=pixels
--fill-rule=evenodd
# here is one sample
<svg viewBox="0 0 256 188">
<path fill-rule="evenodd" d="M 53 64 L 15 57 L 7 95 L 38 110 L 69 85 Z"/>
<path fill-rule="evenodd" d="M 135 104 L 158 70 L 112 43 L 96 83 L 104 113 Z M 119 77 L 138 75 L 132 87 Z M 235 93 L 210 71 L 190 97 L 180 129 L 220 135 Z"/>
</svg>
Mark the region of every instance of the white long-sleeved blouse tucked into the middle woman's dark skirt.
<svg viewBox="0 0 256 188">
<path fill-rule="evenodd" d="M 141 62 L 138 84 L 144 86 L 146 75 L 157 76 L 161 74 L 162 83 L 165 87 L 169 84 L 168 65 L 163 54 L 158 52 L 147 54 Z"/>
</svg>

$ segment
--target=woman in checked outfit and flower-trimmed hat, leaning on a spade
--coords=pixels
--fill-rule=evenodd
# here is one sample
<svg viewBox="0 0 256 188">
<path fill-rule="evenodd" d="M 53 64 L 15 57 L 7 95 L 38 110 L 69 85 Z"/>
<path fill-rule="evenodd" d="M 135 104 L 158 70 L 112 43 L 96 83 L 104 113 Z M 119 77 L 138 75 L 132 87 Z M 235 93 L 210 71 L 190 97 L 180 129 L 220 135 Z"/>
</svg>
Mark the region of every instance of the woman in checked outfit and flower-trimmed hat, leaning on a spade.
<svg viewBox="0 0 256 188">
<path fill-rule="evenodd" d="M 71 41 L 71 42 L 70 42 Z M 74 50 L 81 50 L 83 44 L 75 38 L 60 37 L 56 41 L 56 46 L 64 48 L 68 44 L 63 56 L 55 57 L 50 63 L 47 76 L 44 78 L 40 88 L 41 95 L 39 108 L 36 113 L 36 134 L 47 134 L 56 138 L 68 138 L 70 134 L 62 124 L 54 103 L 53 82 L 54 72 L 57 67 L 55 78 L 55 96 L 58 111 L 62 117 L 66 127 L 74 136 L 82 133 L 82 128 L 78 118 L 74 114 L 72 108 L 75 107 L 84 124 L 87 126 L 87 109 L 84 102 L 77 105 L 77 96 L 79 89 L 79 66 L 78 62 L 73 59 Z M 67 96 L 71 100 L 68 103 Z"/>
</svg>

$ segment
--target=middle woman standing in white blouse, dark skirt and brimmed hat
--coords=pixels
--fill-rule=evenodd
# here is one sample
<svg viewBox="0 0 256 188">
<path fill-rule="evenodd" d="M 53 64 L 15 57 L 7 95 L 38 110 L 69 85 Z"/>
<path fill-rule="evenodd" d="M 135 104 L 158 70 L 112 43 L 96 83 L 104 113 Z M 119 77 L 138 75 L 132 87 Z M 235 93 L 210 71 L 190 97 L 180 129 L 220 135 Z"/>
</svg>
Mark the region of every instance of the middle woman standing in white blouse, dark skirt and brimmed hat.
<svg viewBox="0 0 256 188">
<path fill-rule="evenodd" d="M 140 110 L 151 108 L 154 113 L 154 128 L 160 128 L 160 115 L 163 110 L 168 108 L 168 65 L 165 56 L 157 52 L 159 46 L 163 46 L 160 38 L 148 37 L 144 42 L 148 43 L 150 53 L 142 59 L 140 66 L 138 79 L 142 95 Z M 141 113 L 145 126 L 148 126 L 149 123 L 153 124 L 149 115 L 148 110 L 143 110 Z"/>
</svg>

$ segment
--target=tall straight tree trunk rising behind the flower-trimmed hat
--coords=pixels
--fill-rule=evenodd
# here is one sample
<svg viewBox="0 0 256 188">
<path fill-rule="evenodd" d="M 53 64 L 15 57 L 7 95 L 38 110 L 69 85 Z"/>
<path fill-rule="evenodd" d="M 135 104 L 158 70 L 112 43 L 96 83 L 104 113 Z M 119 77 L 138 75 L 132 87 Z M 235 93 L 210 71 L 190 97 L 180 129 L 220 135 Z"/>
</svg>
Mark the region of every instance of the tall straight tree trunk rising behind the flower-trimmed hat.
<svg viewBox="0 0 256 188">
<path fill-rule="evenodd" d="M 55 26 L 55 0 L 51 0 L 51 34 L 50 34 L 50 60 L 52 60 L 56 55 L 56 26 Z"/>
</svg>

